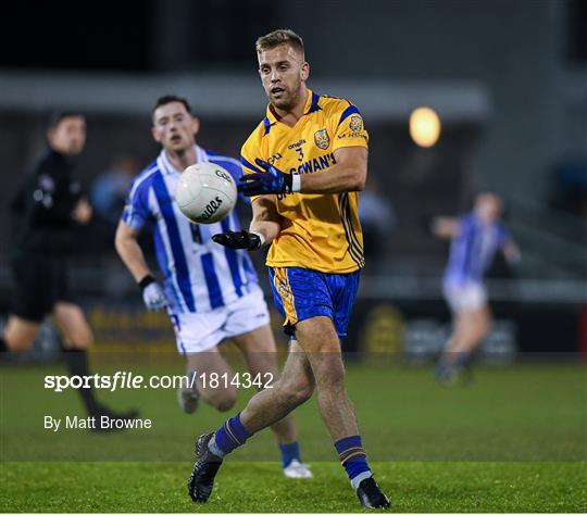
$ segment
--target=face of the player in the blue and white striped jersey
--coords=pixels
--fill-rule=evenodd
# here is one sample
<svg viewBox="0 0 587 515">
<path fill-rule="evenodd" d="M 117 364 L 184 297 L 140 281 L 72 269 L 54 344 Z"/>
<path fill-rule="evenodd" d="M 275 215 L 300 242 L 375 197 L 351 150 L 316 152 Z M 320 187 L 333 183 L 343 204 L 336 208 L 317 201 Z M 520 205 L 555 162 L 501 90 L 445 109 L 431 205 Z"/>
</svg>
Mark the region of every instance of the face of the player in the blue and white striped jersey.
<svg viewBox="0 0 587 515">
<path fill-rule="evenodd" d="M 165 150 L 184 152 L 189 149 L 196 143 L 199 128 L 198 118 L 189 114 L 182 102 L 166 103 L 153 113 L 151 131 Z"/>
</svg>

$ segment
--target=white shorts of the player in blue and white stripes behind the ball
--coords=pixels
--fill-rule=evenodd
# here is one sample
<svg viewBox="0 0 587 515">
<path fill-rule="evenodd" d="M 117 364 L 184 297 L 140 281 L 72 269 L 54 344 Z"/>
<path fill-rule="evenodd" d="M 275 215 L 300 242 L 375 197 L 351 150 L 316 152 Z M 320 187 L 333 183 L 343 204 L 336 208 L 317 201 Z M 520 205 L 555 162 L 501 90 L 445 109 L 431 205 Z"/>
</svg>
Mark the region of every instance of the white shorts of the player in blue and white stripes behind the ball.
<svg viewBox="0 0 587 515">
<path fill-rule="evenodd" d="M 171 314 L 177 350 L 203 352 L 225 338 L 250 332 L 270 323 L 267 304 L 259 286 L 237 301 L 207 313 Z"/>
</svg>

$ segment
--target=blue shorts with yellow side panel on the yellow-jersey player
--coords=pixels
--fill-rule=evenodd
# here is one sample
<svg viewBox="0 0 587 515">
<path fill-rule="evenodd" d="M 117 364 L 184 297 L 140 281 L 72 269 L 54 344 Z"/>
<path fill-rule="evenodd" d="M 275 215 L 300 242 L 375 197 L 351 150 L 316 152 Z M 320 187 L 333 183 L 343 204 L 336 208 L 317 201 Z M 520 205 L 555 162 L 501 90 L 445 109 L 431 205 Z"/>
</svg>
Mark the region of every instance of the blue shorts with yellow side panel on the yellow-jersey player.
<svg viewBox="0 0 587 515">
<path fill-rule="evenodd" d="M 360 271 L 351 274 L 325 274 L 297 266 L 270 268 L 270 282 L 277 311 L 285 317 L 284 330 L 290 337 L 296 324 L 314 316 L 333 319 L 339 338 L 347 336 L 347 325 Z"/>
</svg>

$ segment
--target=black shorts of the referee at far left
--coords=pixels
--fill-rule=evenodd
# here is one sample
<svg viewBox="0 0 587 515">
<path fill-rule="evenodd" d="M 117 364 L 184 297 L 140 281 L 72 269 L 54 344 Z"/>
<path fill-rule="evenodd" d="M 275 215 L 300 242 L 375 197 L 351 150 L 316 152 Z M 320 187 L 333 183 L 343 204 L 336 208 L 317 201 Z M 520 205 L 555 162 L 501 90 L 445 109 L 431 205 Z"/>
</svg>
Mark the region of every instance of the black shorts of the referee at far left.
<svg viewBox="0 0 587 515">
<path fill-rule="evenodd" d="M 18 254 L 12 263 L 16 291 L 13 312 L 32 322 L 41 322 L 55 302 L 73 302 L 64 258 Z"/>
</svg>

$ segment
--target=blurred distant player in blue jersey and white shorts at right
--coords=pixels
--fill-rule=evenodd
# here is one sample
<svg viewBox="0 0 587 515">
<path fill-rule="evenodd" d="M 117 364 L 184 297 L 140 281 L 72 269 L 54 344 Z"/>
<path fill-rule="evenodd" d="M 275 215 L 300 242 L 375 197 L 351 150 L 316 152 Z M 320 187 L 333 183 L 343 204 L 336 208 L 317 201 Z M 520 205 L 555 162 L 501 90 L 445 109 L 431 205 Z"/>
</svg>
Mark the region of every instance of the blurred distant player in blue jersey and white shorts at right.
<svg viewBox="0 0 587 515">
<path fill-rule="evenodd" d="M 433 221 L 433 233 L 451 239 L 444 293 L 452 312 L 453 328 L 437 368 L 437 377 L 444 382 L 462 377 L 490 329 L 491 312 L 483 278 L 496 251 L 502 250 L 510 263 L 520 260 L 520 251 L 500 219 L 501 212 L 501 199 L 484 192 L 475 199 L 471 213 Z"/>
</svg>

